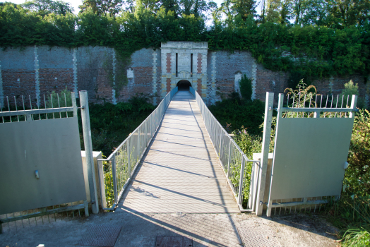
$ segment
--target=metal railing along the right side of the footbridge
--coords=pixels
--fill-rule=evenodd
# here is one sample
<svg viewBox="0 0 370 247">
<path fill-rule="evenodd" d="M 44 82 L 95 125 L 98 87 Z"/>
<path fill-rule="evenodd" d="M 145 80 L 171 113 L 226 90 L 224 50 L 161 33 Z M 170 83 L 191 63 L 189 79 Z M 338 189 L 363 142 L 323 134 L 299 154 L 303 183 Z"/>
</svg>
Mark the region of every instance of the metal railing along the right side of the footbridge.
<svg viewBox="0 0 370 247">
<path fill-rule="evenodd" d="M 210 140 L 215 148 L 220 164 L 227 177 L 230 188 L 242 212 L 252 212 L 255 210 L 256 186 L 258 174 L 255 176 L 255 165 L 258 160 L 251 160 L 241 151 L 239 145 L 235 143 L 232 137 L 225 131 L 225 128 L 217 121 L 203 102 L 201 96 L 193 88 L 189 89 L 196 98 L 199 109 L 201 110 L 205 128 L 208 131 Z M 247 201 L 253 203 L 247 203 Z M 249 205 L 248 205 L 249 204 Z M 244 209 L 249 207 L 248 209 Z"/>
</svg>

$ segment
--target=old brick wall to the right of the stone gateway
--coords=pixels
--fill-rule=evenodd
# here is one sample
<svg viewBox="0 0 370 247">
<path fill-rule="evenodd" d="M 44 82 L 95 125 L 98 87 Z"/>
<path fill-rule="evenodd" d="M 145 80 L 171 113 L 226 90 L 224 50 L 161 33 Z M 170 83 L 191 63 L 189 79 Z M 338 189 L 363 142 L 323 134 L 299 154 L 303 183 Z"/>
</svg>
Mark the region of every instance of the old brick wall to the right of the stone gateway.
<svg viewBox="0 0 370 247">
<path fill-rule="evenodd" d="M 211 57 L 208 54 L 208 78 L 211 78 Z M 234 92 L 234 78 L 235 74 L 240 72 L 245 74 L 248 78 L 253 78 L 253 57 L 249 52 L 215 52 L 216 59 L 216 87 L 217 90 L 224 96 L 230 92 Z M 266 92 L 275 93 L 275 103 L 277 103 L 278 94 L 284 92 L 287 88 L 287 80 L 289 73 L 275 72 L 263 68 L 261 64 L 257 64 L 256 71 L 256 99 L 265 101 Z M 208 79 L 209 80 L 209 79 Z M 316 86 L 319 94 L 328 94 L 330 91 L 330 80 L 333 82 L 332 92 L 334 95 L 340 94 L 345 88 L 345 83 L 353 80 L 354 83 L 359 85 L 359 97 L 364 98 L 366 95 L 365 78 L 362 75 L 351 76 L 335 76 L 334 78 L 321 78 L 314 80 L 313 85 Z M 210 83 L 208 83 L 208 94 L 210 95 Z M 218 98 L 217 100 L 220 100 Z"/>
</svg>

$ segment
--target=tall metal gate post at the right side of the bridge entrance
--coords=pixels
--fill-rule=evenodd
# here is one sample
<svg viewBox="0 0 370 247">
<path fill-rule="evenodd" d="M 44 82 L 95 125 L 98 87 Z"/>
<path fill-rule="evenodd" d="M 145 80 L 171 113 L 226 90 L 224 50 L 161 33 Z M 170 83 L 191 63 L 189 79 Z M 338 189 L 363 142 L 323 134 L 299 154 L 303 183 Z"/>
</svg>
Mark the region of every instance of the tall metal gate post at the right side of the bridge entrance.
<svg viewBox="0 0 370 247">
<path fill-rule="evenodd" d="M 258 177 L 258 189 L 256 200 L 256 215 L 261 216 L 263 210 L 263 198 L 265 196 L 265 183 L 267 174 L 268 151 L 270 146 L 271 122 L 273 121 L 274 93 L 266 92 L 265 121 L 263 123 L 261 172 Z"/>
</svg>

